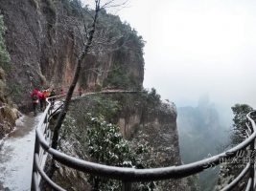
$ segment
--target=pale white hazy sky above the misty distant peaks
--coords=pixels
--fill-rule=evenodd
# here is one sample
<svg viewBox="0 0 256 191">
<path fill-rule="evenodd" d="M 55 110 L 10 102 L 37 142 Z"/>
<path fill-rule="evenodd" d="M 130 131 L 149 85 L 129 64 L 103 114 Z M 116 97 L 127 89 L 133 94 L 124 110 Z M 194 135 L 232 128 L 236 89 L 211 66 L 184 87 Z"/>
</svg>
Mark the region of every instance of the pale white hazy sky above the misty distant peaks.
<svg viewBox="0 0 256 191">
<path fill-rule="evenodd" d="M 256 108 L 256 1 L 130 0 L 118 14 L 147 41 L 145 88 L 177 107 L 208 94 Z"/>
</svg>

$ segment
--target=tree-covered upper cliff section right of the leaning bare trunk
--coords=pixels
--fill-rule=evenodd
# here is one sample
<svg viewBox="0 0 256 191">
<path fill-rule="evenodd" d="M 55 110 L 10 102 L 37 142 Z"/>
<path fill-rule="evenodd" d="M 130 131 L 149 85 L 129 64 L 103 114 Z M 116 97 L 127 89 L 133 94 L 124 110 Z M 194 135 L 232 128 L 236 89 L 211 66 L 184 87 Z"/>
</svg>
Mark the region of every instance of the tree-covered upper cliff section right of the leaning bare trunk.
<svg viewBox="0 0 256 191">
<path fill-rule="evenodd" d="M 62 0 L 68 14 L 89 20 L 92 10 L 87 6 L 81 8 L 81 1 Z M 81 16 L 82 15 L 82 16 Z M 142 88 L 144 74 L 143 48 L 145 41 L 142 36 L 132 29 L 127 22 L 122 22 L 118 15 L 107 13 L 104 9 L 99 12 L 97 33 L 93 39 L 86 59 L 85 71 L 81 75 L 81 87 L 87 88 L 86 78 L 98 75 L 95 88 L 99 86 L 116 89 Z M 107 59 L 109 59 L 107 61 Z M 108 67 L 105 67 L 104 63 Z M 103 76 L 101 76 L 103 75 Z M 91 87 L 89 87 L 91 88 Z"/>
</svg>

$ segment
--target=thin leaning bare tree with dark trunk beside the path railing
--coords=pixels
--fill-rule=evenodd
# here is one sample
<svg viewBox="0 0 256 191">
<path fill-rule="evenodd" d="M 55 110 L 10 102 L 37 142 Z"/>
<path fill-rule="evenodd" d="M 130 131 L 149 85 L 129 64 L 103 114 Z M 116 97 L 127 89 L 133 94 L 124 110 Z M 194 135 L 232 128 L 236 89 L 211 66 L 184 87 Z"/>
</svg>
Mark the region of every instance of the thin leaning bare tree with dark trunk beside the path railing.
<svg viewBox="0 0 256 191">
<path fill-rule="evenodd" d="M 64 118 L 66 117 L 66 114 L 68 112 L 68 108 L 70 105 L 70 100 L 72 98 L 72 95 L 74 93 L 75 87 L 78 83 L 80 74 L 81 74 L 81 65 L 84 61 L 85 56 L 89 53 L 89 51 L 92 51 L 93 48 L 99 46 L 101 43 L 105 43 L 105 40 L 103 40 L 102 36 L 105 35 L 105 32 L 96 32 L 96 23 L 99 17 L 99 12 L 105 10 L 106 8 L 122 8 L 127 5 L 128 0 L 123 1 L 121 4 L 115 4 L 115 0 L 106 0 L 104 3 L 102 3 L 101 0 L 94 0 L 95 2 L 95 11 L 92 14 L 91 12 L 87 12 L 90 15 L 91 23 L 87 24 L 86 20 L 82 16 L 82 32 L 80 29 L 78 29 L 78 35 L 81 39 L 81 52 L 76 53 L 77 55 L 77 67 L 76 71 L 73 77 L 73 80 L 70 84 L 70 87 L 68 89 L 67 95 L 65 97 L 65 101 L 63 104 L 63 107 L 60 111 L 60 114 L 58 116 L 57 123 L 55 125 L 54 129 L 54 136 L 53 136 L 53 142 L 52 142 L 52 148 L 57 149 L 58 147 L 58 134 L 59 130 L 61 128 L 61 125 L 63 123 Z M 80 9 L 81 12 L 81 9 Z M 79 25 L 77 25 L 79 28 Z M 93 43 L 94 35 L 98 36 L 98 40 Z M 102 40 L 101 40 L 102 39 Z M 117 38 L 114 38 L 117 39 Z M 100 46 L 101 47 L 101 46 Z"/>
</svg>

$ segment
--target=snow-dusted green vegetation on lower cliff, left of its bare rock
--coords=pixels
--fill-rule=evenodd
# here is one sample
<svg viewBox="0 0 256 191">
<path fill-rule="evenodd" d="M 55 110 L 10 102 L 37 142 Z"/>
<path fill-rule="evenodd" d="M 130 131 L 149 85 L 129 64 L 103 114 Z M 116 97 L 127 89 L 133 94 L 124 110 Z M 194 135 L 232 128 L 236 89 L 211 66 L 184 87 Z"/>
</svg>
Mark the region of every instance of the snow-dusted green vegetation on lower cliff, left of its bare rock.
<svg viewBox="0 0 256 191">
<path fill-rule="evenodd" d="M 81 96 L 73 100 L 69 114 L 64 121 L 64 127 L 61 129 L 59 149 L 69 154 L 70 150 L 66 151 L 65 145 L 67 142 L 77 142 L 74 147 L 80 159 L 113 166 L 149 168 L 149 163 L 155 161 L 147 161 L 149 157 L 147 158 L 148 154 L 145 150 L 146 142 L 144 141 L 144 144 L 141 144 L 140 141 L 136 141 L 136 144 L 134 144 L 126 140 L 121 135 L 120 127 L 117 125 L 120 115 L 131 115 L 134 112 L 135 104 L 146 104 L 148 96 L 154 100 L 159 99 L 156 92 L 153 94 L 145 92 L 132 95 L 126 93 L 96 94 Z M 152 108 L 153 105 L 151 105 Z M 88 113 L 90 117 L 86 115 Z M 111 190 L 110 187 L 120 187 L 118 181 L 89 177 L 92 187 L 99 186 L 105 190 Z M 99 180 L 101 183 L 98 183 Z M 153 187 L 154 184 L 149 184 L 149 182 L 139 183 L 138 186 L 140 188 L 143 188 L 143 186 Z"/>
</svg>

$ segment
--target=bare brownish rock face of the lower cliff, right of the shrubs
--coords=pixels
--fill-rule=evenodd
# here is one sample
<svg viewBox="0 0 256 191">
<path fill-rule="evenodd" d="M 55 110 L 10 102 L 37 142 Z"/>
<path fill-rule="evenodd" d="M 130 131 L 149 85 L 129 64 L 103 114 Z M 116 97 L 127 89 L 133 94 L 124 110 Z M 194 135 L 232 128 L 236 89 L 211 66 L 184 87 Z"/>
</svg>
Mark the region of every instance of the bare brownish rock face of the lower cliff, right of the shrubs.
<svg viewBox="0 0 256 191">
<path fill-rule="evenodd" d="M 151 146 L 153 167 L 178 166 L 181 158 L 176 128 L 176 108 L 174 103 L 161 102 L 157 106 L 147 104 L 135 109 L 131 115 L 120 117 L 123 135 L 132 135 L 131 141 L 146 140 Z M 158 182 L 159 190 L 191 190 L 186 179 Z"/>
</svg>

